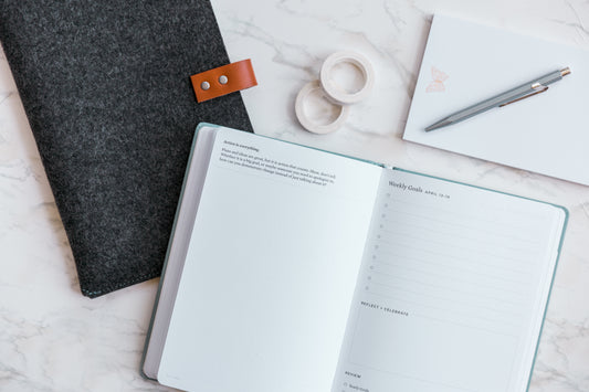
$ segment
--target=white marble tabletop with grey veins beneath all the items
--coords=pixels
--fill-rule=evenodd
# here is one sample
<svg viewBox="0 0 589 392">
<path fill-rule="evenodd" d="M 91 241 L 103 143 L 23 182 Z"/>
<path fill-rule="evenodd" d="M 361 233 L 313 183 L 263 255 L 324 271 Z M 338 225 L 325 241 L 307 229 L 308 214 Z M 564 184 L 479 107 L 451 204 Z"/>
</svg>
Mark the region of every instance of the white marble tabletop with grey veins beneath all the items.
<svg viewBox="0 0 589 392">
<path fill-rule="evenodd" d="M 256 133 L 569 210 L 530 391 L 589 391 L 589 188 L 401 139 L 434 12 L 589 49 L 589 1 L 213 4 L 231 59 L 253 59 L 260 86 L 243 95 Z M 343 129 L 311 135 L 294 118 L 294 97 L 316 77 L 323 59 L 343 49 L 370 57 L 377 86 Z M 166 390 L 138 373 L 157 280 L 97 299 L 80 294 L 65 232 L 1 53 L 0 255 L 1 391 Z"/>
</svg>

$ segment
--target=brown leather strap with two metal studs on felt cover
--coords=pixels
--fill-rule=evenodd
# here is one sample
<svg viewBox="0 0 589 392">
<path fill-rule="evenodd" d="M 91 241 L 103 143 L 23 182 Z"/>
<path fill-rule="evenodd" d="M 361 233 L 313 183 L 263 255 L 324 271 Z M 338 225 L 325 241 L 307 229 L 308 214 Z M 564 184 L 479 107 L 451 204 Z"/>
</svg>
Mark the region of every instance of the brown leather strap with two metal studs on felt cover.
<svg viewBox="0 0 589 392">
<path fill-rule="evenodd" d="M 257 85 L 250 59 L 190 76 L 199 103 Z"/>
</svg>

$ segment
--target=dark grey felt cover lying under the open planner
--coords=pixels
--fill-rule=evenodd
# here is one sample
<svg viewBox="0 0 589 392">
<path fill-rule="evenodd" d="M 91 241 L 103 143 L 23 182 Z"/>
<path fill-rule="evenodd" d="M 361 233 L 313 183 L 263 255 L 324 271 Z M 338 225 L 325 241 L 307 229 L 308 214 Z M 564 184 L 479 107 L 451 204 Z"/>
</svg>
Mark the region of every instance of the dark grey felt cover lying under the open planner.
<svg viewBox="0 0 589 392">
<path fill-rule="evenodd" d="M 0 0 L 0 41 L 77 265 L 96 297 L 159 276 L 196 126 L 251 130 L 208 0 Z M 242 60 L 242 59 L 239 59 Z"/>
</svg>

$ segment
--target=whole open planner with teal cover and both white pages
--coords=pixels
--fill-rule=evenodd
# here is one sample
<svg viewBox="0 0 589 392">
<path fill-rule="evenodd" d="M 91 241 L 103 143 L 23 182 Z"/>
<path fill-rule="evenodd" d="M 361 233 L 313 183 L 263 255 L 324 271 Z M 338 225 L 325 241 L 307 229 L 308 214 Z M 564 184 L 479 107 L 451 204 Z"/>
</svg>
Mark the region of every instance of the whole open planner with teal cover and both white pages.
<svg viewBox="0 0 589 392">
<path fill-rule="evenodd" d="M 141 371 L 183 390 L 525 391 L 560 206 L 200 125 Z"/>
</svg>

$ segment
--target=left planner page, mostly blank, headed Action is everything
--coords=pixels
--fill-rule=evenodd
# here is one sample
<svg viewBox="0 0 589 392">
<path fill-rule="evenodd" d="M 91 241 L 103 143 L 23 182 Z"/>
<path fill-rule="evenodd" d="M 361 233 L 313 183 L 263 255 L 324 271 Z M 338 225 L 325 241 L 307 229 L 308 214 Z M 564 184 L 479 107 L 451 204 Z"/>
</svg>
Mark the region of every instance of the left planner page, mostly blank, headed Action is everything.
<svg viewBox="0 0 589 392">
<path fill-rule="evenodd" d="M 328 391 L 380 173 L 220 128 L 158 381 L 202 391 Z"/>
</svg>

